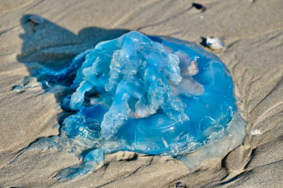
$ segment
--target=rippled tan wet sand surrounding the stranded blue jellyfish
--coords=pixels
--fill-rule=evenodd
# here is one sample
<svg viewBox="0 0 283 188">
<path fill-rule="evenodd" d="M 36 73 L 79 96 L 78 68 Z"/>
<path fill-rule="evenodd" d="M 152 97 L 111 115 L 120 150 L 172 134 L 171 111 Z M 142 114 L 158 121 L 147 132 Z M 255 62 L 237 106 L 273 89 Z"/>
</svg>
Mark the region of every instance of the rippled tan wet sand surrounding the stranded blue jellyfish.
<svg viewBox="0 0 283 188">
<path fill-rule="evenodd" d="M 192 7 L 198 2 L 206 7 Z M 282 0 L 0 0 L 0 188 L 282 188 L 283 187 Z M 27 22 L 40 15 L 42 24 Z M 63 85 L 15 92 L 34 69 L 67 65 L 85 49 L 138 30 L 196 42 L 218 37 L 213 51 L 235 84 L 247 137 L 224 158 L 203 161 L 190 172 L 176 159 L 133 152 L 106 155 L 83 178 L 56 181 L 58 170 L 81 161 L 53 150 L 19 151 L 58 135 L 67 112 Z M 37 80 L 30 81 L 36 86 Z"/>
</svg>

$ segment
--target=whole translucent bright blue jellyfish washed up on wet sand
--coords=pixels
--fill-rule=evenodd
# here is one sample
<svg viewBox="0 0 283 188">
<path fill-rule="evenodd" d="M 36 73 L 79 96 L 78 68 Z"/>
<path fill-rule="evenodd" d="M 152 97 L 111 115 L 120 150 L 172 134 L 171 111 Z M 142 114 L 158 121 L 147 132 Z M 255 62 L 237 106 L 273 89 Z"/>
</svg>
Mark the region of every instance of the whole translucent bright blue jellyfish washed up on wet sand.
<svg viewBox="0 0 283 188">
<path fill-rule="evenodd" d="M 195 43 L 131 31 L 77 55 L 45 81 L 76 72 L 61 106 L 60 134 L 32 142 L 36 149 L 72 152 L 82 159 L 60 170 L 61 181 L 102 166 L 105 154 L 132 151 L 169 156 L 191 171 L 202 160 L 224 157 L 246 136 L 225 64 Z"/>
</svg>

